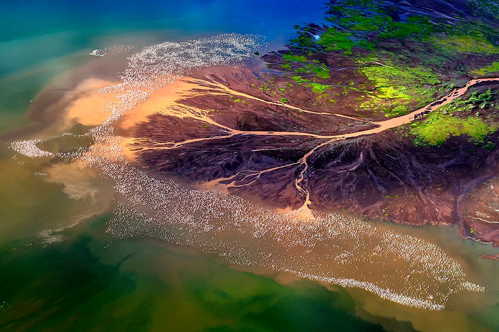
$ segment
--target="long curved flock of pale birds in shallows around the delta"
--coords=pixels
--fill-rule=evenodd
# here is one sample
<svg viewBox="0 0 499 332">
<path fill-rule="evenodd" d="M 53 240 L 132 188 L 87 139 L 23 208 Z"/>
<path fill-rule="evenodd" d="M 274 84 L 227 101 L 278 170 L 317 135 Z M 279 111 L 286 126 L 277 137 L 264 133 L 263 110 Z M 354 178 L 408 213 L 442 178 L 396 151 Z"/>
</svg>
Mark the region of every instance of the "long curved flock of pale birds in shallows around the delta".
<svg viewBox="0 0 499 332">
<path fill-rule="evenodd" d="M 148 46 L 129 58 L 122 83 L 100 90 L 121 101 L 104 107 L 110 116 L 90 130 L 95 143 L 78 158 L 102 169 L 130 202 L 116 209 L 108 232 L 190 245 L 231 263 L 358 287 L 418 308 L 442 310 L 456 291 L 485 291 L 466 281 L 460 264 L 429 242 L 338 214 L 306 208 L 280 212 L 219 190 L 185 189 L 127 163 L 114 131 L 127 111 L 195 69 L 243 65 L 264 48 L 263 37 L 235 33 Z M 12 148 L 28 157 L 53 156 L 36 143 L 14 142 Z"/>
</svg>

